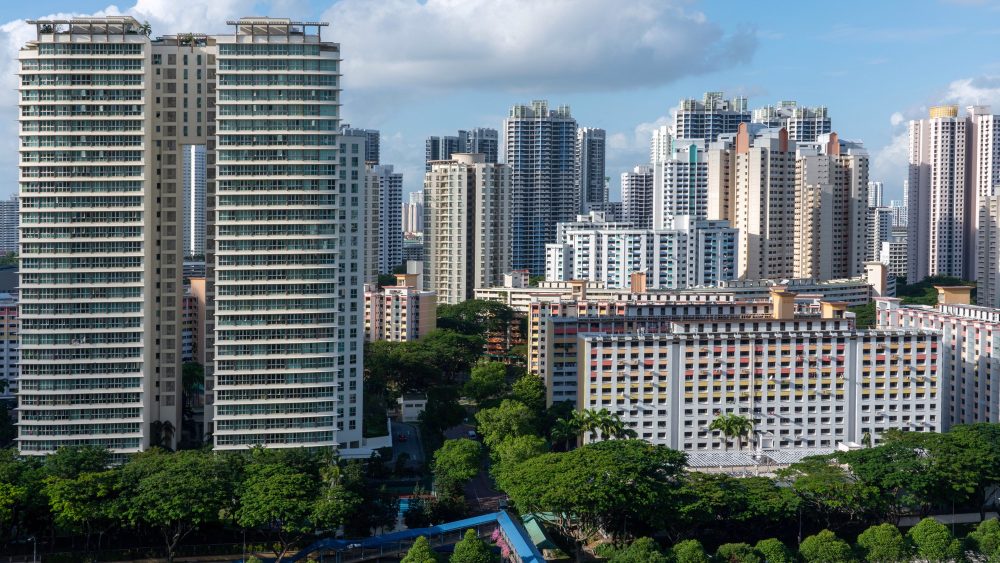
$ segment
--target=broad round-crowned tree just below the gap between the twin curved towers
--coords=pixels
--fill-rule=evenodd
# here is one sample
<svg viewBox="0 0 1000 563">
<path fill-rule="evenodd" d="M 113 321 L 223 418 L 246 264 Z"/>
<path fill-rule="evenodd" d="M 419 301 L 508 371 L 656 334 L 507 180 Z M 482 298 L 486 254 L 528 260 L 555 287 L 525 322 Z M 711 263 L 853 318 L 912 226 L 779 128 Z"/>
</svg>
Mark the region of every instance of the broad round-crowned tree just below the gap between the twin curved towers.
<svg viewBox="0 0 1000 563">
<path fill-rule="evenodd" d="M 117 513 L 127 524 L 158 530 L 173 561 L 178 544 L 203 524 L 217 522 L 231 494 L 213 453 L 150 450 L 121 469 Z"/>
</svg>

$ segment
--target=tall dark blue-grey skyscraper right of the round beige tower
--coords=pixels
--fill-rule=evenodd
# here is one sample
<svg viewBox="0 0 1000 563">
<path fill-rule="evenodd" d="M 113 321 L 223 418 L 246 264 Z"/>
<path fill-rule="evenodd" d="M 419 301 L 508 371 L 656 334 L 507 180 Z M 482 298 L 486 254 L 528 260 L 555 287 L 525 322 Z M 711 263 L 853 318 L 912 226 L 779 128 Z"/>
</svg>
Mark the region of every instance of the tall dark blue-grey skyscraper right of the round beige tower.
<svg viewBox="0 0 1000 563">
<path fill-rule="evenodd" d="M 576 120 L 569 106 L 550 110 L 548 102 L 536 100 L 510 109 L 503 154 L 513 185 L 515 270 L 544 274 L 545 245 L 555 242 L 556 223 L 576 216 L 575 152 Z"/>
</svg>

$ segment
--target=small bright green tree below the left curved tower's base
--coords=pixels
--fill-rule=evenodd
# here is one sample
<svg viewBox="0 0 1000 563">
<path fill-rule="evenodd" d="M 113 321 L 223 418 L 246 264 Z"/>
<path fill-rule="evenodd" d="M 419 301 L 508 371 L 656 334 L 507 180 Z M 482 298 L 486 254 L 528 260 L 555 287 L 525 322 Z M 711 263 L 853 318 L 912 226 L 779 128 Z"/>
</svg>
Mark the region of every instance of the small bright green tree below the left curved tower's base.
<svg viewBox="0 0 1000 563">
<path fill-rule="evenodd" d="M 85 534 L 84 549 L 89 550 L 91 535 L 103 533 L 115 521 L 117 483 L 117 471 L 81 473 L 71 478 L 52 476 L 45 479 L 43 491 L 56 525 Z"/>
</svg>

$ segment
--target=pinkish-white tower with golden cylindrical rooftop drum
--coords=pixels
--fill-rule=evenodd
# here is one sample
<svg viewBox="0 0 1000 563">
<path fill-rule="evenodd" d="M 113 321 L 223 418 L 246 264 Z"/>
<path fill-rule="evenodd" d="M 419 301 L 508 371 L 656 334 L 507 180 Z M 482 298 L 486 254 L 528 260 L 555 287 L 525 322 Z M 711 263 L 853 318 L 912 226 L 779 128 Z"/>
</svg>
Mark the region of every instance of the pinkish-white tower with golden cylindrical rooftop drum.
<svg viewBox="0 0 1000 563">
<path fill-rule="evenodd" d="M 957 106 L 932 107 L 929 119 L 910 122 L 908 280 L 973 274 L 966 260 L 971 229 L 966 127 Z"/>
</svg>

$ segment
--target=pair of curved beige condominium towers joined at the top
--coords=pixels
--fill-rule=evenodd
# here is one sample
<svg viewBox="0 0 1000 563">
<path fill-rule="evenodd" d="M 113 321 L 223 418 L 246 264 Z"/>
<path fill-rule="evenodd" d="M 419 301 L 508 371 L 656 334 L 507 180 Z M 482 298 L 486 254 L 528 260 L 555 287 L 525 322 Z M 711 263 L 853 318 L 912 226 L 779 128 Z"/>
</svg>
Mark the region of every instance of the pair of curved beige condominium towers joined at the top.
<svg viewBox="0 0 1000 563">
<path fill-rule="evenodd" d="M 206 152 L 214 446 L 363 448 L 363 180 L 338 155 L 326 24 L 244 18 L 151 38 L 127 16 L 31 23 L 20 450 L 176 446 L 192 145 Z"/>
</svg>

